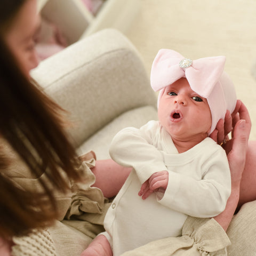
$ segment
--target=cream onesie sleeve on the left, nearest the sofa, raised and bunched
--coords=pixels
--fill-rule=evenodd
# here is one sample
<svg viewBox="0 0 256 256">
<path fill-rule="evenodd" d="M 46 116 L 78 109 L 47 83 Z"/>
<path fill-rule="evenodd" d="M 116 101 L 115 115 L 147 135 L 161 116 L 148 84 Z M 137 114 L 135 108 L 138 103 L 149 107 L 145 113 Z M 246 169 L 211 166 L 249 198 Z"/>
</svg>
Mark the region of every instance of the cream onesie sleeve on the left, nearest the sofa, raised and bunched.
<svg viewBox="0 0 256 256">
<path fill-rule="evenodd" d="M 127 127 L 110 144 L 111 158 L 122 166 L 133 167 L 141 183 L 153 173 L 167 170 L 162 154 L 154 145 L 157 130 L 157 121 L 149 121 L 140 129 Z"/>
</svg>

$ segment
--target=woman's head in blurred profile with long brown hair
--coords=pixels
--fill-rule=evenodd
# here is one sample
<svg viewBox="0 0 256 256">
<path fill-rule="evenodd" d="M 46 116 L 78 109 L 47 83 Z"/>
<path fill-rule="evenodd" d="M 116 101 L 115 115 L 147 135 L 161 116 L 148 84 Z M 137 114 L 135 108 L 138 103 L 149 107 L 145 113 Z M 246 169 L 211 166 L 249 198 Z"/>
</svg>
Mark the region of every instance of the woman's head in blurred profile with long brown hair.
<svg viewBox="0 0 256 256">
<path fill-rule="evenodd" d="M 0 15 L 0 93 L 3 95 L 0 237 L 10 245 L 12 236 L 26 234 L 31 228 L 45 227 L 58 217 L 51 187 L 65 193 L 69 188 L 67 177 L 77 180 L 79 174 L 74 170 L 81 163 L 63 130 L 64 123 L 59 115 L 62 109 L 28 81 L 29 70 L 37 66 L 34 51 L 38 26 L 36 1 L 4 2 Z M 26 163 L 31 175 L 39 177 L 45 173 L 35 193 L 24 191 L 8 178 L 11 156 L 5 152 L 10 148 Z"/>
</svg>

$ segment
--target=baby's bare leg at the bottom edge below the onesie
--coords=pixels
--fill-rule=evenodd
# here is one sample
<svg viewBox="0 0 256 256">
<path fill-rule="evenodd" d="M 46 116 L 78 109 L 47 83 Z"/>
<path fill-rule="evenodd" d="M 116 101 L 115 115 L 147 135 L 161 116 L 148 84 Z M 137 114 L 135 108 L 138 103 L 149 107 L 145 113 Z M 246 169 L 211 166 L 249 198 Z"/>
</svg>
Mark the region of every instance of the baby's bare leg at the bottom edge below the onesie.
<svg viewBox="0 0 256 256">
<path fill-rule="evenodd" d="M 81 253 L 81 256 L 113 256 L 113 252 L 106 236 L 99 235 Z"/>
</svg>

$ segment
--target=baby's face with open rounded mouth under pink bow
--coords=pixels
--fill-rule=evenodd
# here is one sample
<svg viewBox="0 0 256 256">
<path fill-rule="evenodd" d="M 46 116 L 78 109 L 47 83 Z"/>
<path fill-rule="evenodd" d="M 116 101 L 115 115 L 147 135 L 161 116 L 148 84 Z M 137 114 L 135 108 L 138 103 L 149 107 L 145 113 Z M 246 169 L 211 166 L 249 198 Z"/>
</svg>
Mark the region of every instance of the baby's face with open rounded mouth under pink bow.
<svg viewBox="0 0 256 256">
<path fill-rule="evenodd" d="M 165 88 L 159 100 L 158 118 L 172 138 L 182 141 L 202 141 L 212 124 L 207 100 L 191 90 L 186 78 Z"/>
</svg>

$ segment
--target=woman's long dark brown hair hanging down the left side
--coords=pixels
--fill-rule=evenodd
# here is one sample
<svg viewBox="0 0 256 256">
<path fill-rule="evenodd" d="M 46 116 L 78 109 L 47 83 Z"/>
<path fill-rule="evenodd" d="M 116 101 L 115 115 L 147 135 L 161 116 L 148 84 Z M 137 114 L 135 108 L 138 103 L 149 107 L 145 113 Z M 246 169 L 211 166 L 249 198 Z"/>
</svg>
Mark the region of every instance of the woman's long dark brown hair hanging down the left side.
<svg viewBox="0 0 256 256">
<path fill-rule="evenodd" d="M 25 1 L 1 0 L 0 5 L 6 5 L 0 10 L 1 22 Z M 22 190 L 3 174 L 8 156 L 0 154 L 0 237 L 7 239 L 45 227 L 57 217 L 52 187 L 65 192 L 67 178 L 79 179 L 75 170 L 81 163 L 61 125 L 62 109 L 23 75 L 1 34 L 0 134 L 34 177 L 47 177 L 39 179 L 42 193 Z"/>
</svg>

